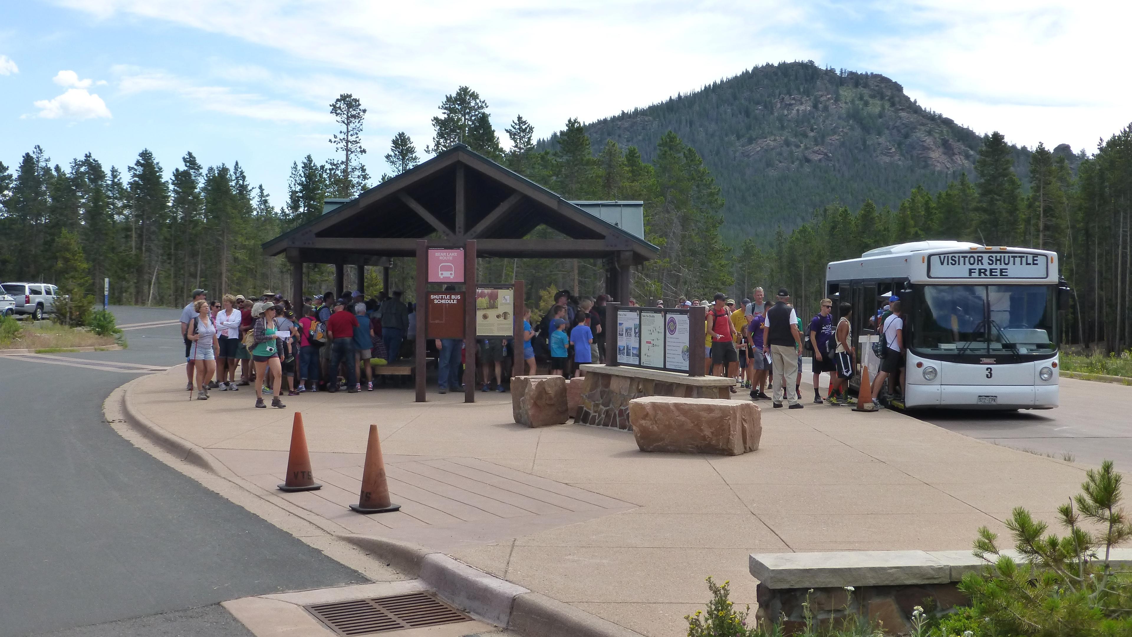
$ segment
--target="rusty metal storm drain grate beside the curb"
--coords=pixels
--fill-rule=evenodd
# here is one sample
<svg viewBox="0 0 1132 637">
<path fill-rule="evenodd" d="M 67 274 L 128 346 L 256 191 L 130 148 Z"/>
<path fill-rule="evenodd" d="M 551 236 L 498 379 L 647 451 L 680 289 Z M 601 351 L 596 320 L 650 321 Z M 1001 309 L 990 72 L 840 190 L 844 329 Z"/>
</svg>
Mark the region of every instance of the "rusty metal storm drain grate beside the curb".
<svg viewBox="0 0 1132 637">
<path fill-rule="evenodd" d="M 306 609 L 338 635 L 372 635 L 471 621 L 468 616 L 428 593 L 311 604 Z"/>
</svg>

